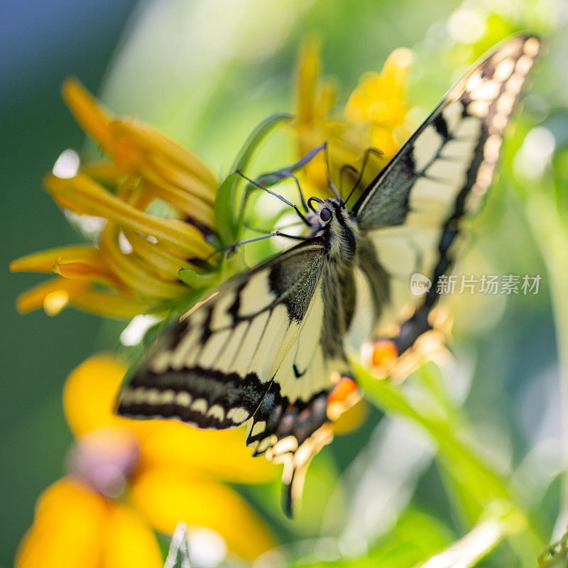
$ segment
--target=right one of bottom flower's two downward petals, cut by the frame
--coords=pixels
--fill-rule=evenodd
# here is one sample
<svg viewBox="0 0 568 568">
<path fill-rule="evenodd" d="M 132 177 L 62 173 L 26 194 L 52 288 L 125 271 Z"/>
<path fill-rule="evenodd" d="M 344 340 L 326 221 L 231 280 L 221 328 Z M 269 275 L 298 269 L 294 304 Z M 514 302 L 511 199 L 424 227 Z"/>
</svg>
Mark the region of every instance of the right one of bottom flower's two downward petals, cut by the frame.
<svg viewBox="0 0 568 568">
<path fill-rule="evenodd" d="M 103 537 L 102 568 L 162 568 L 153 530 L 135 510 L 109 503 Z"/>
</svg>

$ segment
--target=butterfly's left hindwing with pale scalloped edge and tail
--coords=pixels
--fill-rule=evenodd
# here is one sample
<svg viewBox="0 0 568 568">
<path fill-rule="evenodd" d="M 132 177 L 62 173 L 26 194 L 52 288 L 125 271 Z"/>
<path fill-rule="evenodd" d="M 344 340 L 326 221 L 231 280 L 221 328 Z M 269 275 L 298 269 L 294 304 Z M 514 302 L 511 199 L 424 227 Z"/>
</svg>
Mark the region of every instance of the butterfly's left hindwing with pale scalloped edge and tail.
<svg viewBox="0 0 568 568">
<path fill-rule="evenodd" d="M 332 441 L 327 403 L 336 383 L 349 373 L 342 347 L 326 329 L 331 327 L 329 315 L 332 312 L 333 317 L 336 304 L 329 302 L 329 297 L 324 302 L 323 294 L 329 285 L 342 289 L 336 278 L 337 274 L 328 270 L 317 286 L 300 331 L 247 432 L 246 444 L 253 455 L 266 454 L 271 461 L 284 464 L 283 507 L 290 516 L 300 501 L 310 461 Z"/>
</svg>

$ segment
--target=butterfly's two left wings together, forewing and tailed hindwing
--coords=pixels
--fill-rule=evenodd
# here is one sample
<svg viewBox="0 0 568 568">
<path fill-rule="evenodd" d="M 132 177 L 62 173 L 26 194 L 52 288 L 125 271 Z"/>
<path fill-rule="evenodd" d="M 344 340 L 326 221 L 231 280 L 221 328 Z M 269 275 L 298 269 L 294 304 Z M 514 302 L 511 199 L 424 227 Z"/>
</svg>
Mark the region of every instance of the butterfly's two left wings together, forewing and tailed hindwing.
<svg viewBox="0 0 568 568">
<path fill-rule="evenodd" d="M 324 262 L 322 239 L 310 239 L 198 302 L 160 334 L 117 409 L 213 430 L 249 420 L 253 455 L 285 466 L 288 515 L 332 440 L 327 400 L 346 368 L 324 352 Z"/>
</svg>

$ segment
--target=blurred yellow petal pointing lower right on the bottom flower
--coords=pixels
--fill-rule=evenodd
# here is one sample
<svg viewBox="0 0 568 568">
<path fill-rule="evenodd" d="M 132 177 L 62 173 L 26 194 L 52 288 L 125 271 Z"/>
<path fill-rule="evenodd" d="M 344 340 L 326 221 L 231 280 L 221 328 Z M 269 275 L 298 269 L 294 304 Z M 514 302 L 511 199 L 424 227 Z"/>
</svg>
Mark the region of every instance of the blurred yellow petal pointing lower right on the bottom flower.
<svg viewBox="0 0 568 568">
<path fill-rule="evenodd" d="M 147 469 L 131 484 L 131 499 L 153 527 L 171 535 L 178 522 L 221 535 L 231 552 L 256 558 L 275 542 L 266 524 L 231 488 L 170 469 Z"/>
</svg>

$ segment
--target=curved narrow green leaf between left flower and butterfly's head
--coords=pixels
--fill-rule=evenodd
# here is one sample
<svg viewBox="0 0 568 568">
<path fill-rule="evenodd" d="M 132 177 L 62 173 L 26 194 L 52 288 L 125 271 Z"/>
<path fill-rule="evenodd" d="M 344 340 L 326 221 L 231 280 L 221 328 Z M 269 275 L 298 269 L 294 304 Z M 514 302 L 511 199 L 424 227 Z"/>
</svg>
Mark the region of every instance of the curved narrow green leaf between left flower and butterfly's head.
<svg viewBox="0 0 568 568">
<path fill-rule="evenodd" d="M 241 220 L 239 219 L 241 200 L 238 196 L 238 190 L 239 185 L 243 182 L 243 178 L 234 172 L 236 170 L 244 170 L 249 165 L 260 143 L 268 136 L 268 133 L 281 122 L 288 121 L 291 118 L 290 114 L 273 114 L 258 124 L 237 154 L 231 166 L 231 173 L 219 186 L 215 199 L 214 214 L 217 223 L 217 233 L 224 246 L 239 240 L 239 231 L 241 229 L 239 226 Z"/>
</svg>

